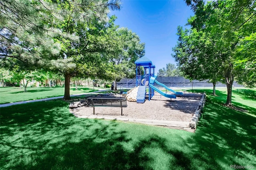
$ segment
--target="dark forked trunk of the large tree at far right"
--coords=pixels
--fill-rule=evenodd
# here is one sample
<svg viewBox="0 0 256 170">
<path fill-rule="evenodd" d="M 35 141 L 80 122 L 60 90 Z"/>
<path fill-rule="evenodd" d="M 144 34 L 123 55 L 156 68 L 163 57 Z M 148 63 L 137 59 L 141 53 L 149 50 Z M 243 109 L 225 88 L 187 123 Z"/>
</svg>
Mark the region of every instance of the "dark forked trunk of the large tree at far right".
<svg viewBox="0 0 256 170">
<path fill-rule="evenodd" d="M 234 81 L 233 64 L 230 63 L 228 69 L 225 71 L 226 86 L 228 90 L 227 101 L 225 105 L 232 106 L 232 85 Z"/>
</svg>

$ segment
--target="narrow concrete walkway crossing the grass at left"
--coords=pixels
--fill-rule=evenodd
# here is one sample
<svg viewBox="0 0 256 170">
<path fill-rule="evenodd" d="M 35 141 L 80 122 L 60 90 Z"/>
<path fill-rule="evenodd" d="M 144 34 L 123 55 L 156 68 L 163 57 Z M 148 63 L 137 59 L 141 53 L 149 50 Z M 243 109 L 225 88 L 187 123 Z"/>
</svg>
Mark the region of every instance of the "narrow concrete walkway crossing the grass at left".
<svg viewBox="0 0 256 170">
<path fill-rule="evenodd" d="M 100 93 L 103 91 L 108 91 L 108 90 L 98 90 L 98 91 L 94 91 L 94 92 L 90 92 L 90 93 L 81 93 L 81 94 L 76 94 L 76 95 L 70 95 L 70 97 L 75 97 L 75 96 L 81 96 L 81 95 L 90 95 L 93 93 Z M 53 99 L 62 99 L 64 96 L 58 96 L 58 97 L 49 97 L 49 98 L 44 98 L 44 99 L 35 99 L 35 100 L 28 100 L 28 101 L 18 101 L 18 102 L 14 102 L 14 103 L 6 103 L 6 104 L 1 104 L 0 107 L 8 107 L 8 106 L 12 106 L 12 105 L 20 105 L 20 104 L 24 104 L 24 103 L 33 103 L 33 102 L 37 102 L 37 101 L 47 101 L 47 100 L 53 100 Z"/>
</svg>

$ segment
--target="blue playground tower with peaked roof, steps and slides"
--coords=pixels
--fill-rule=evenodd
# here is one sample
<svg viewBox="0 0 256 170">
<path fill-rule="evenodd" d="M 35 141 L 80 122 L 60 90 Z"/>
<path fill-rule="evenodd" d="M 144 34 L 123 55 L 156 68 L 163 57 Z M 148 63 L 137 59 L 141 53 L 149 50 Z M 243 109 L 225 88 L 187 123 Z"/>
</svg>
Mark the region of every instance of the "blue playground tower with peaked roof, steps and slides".
<svg viewBox="0 0 256 170">
<path fill-rule="evenodd" d="M 144 103 L 145 97 L 148 96 L 148 100 L 152 99 L 154 96 L 154 91 L 157 91 L 164 97 L 168 97 L 170 99 L 176 99 L 176 95 L 182 95 L 182 92 L 176 92 L 166 85 L 156 81 L 157 75 L 154 73 L 155 65 L 152 64 L 146 57 L 141 57 L 140 59 L 134 62 L 136 64 L 136 87 L 138 87 L 136 101 L 137 103 Z M 143 69 L 142 69 L 143 67 Z M 144 74 L 142 75 L 142 71 L 144 70 Z M 154 86 L 154 83 L 161 85 L 166 90 L 171 91 L 176 95 L 169 95 L 161 91 L 158 87 Z M 146 89 L 148 89 L 148 93 L 146 93 Z"/>
</svg>

